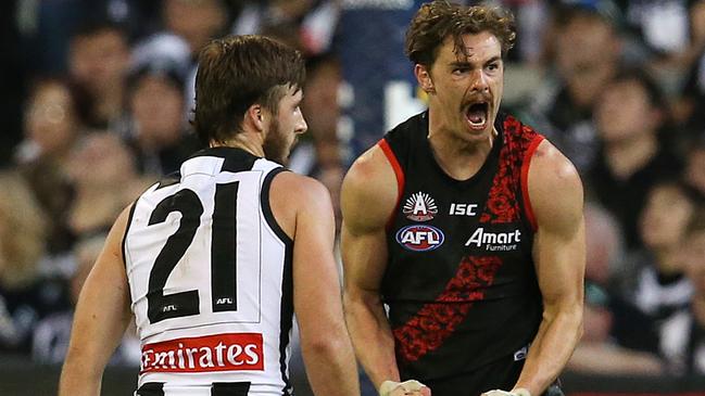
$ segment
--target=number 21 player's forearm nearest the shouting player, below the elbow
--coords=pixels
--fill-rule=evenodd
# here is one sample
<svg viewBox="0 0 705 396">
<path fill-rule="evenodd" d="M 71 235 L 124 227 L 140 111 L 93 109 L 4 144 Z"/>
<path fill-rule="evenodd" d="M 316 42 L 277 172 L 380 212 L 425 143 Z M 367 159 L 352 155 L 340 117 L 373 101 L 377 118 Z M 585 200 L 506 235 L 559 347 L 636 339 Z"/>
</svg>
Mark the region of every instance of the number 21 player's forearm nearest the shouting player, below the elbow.
<svg viewBox="0 0 705 396">
<path fill-rule="evenodd" d="M 357 363 L 345 331 L 326 334 L 325 340 L 302 340 L 301 352 L 315 395 L 360 396 Z"/>
</svg>

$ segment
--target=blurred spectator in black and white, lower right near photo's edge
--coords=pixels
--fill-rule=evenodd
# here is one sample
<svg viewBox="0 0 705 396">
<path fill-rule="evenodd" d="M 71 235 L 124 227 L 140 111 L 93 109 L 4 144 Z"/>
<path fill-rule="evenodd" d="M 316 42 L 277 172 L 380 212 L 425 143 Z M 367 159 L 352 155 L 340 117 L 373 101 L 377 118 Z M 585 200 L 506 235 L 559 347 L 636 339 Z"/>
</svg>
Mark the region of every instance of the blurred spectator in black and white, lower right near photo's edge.
<svg viewBox="0 0 705 396">
<path fill-rule="evenodd" d="M 625 280 L 621 292 L 651 318 L 655 329 L 688 305 L 693 292 L 683 273 L 681 250 L 695 209 L 691 190 L 679 182 L 659 182 L 646 195 L 640 218 L 644 250 L 625 264 L 634 272 Z"/>
</svg>

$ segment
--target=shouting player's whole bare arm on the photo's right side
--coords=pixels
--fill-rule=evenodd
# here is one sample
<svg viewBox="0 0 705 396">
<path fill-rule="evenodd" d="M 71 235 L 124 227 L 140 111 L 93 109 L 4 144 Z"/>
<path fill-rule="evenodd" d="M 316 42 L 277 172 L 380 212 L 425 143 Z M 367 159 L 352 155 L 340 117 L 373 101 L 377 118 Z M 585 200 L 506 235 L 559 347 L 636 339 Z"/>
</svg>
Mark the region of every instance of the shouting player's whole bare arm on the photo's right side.
<svg viewBox="0 0 705 396">
<path fill-rule="evenodd" d="M 558 376 L 582 334 L 583 196 L 576 169 L 547 141 L 531 159 L 528 188 L 538 223 L 533 259 L 543 320 L 515 388 L 538 396 Z"/>
</svg>

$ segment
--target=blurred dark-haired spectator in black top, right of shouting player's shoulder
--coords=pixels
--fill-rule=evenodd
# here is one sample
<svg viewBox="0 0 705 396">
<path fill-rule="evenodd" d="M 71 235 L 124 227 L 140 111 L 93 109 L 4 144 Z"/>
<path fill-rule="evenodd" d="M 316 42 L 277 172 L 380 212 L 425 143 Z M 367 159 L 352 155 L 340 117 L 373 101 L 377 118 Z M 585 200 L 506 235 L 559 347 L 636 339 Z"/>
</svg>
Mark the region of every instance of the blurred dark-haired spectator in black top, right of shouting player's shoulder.
<svg viewBox="0 0 705 396">
<path fill-rule="evenodd" d="M 641 247 L 639 214 L 659 179 L 678 178 L 681 161 L 664 141 L 668 114 L 656 82 L 643 71 L 625 69 L 601 89 L 595 124 L 602 148 L 587 175 L 591 192 L 619 221 L 627 248 Z"/>
</svg>

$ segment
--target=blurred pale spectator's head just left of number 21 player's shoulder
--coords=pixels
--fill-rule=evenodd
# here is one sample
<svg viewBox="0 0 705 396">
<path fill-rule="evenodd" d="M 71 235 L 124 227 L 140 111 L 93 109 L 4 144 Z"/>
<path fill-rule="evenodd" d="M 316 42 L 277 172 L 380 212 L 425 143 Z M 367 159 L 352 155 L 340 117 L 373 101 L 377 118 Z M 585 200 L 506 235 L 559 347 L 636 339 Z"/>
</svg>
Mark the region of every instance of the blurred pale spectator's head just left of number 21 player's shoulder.
<svg viewBox="0 0 705 396">
<path fill-rule="evenodd" d="M 75 196 L 67 225 L 78 240 L 108 232 L 122 209 L 156 179 L 139 178 L 131 153 L 111 132 L 84 138 L 72 153 L 68 173 Z"/>
</svg>

